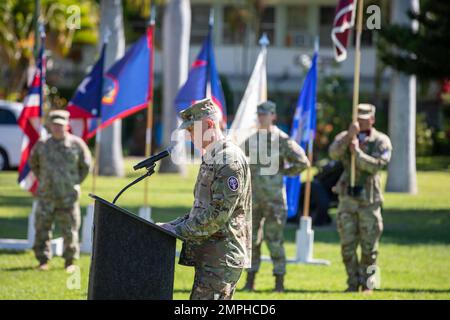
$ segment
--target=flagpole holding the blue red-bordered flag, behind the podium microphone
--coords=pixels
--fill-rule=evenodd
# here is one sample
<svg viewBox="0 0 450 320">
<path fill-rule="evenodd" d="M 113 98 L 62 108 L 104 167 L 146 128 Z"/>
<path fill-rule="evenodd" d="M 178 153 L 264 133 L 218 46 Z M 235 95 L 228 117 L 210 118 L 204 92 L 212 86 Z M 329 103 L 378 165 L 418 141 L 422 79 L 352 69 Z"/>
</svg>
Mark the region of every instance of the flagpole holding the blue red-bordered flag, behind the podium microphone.
<svg viewBox="0 0 450 320">
<path fill-rule="evenodd" d="M 147 127 L 145 130 L 145 157 L 149 157 L 152 149 L 152 130 L 153 130 L 153 62 L 154 62 L 154 52 L 153 52 L 153 29 L 155 27 L 155 17 L 156 10 L 155 5 L 152 5 L 150 12 L 150 28 L 152 28 L 152 51 L 150 60 L 150 88 L 149 88 L 149 99 L 147 104 Z M 144 181 L 144 208 L 148 207 L 148 179 Z"/>
</svg>

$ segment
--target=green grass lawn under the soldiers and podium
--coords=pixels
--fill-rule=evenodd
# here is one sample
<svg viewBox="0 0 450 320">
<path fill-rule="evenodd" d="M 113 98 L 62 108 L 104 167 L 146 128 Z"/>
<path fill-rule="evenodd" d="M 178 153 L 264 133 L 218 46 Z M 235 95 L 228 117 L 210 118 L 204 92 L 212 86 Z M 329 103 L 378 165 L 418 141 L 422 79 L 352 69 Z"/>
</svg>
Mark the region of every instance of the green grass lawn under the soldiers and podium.
<svg viewBox="0 0 450 320">
<path fill-rule="evenodd" d="M 135 159 L 128 159 L 127 168 Z M 98 179 L 97 194 L 112 200 L 114 195 L 136 177 L 128 171 L 125 178 Z M 149 180 L 150 203 L 156 221 L 168 221 L 187 212 L 191 206 L 196 167 L 186 177 L 155 174 Z M 32 199 L 20 190 L 17 173 L 0 173 L 0 238 L 25 238 L 27 216 Z M 286 293 L 271 292 L 274 279 L 271 264 L 262 263 L 256 292 L 238 291 L 236 299 L 450 299 L 450 172 L 421 171 L 419 195 L 386 194 L 379 266 L 381 290 L 371 296 L 342 293 L 345 272 L 341 263 L 339 238 L 335 226 L 315 230 L 314 256 L 328 259 L 330 266 L 289 264 Z M 83 184 L 81 206 L 84 214 L 91 202 L 91 179 Z M 137 212 L 143 199 L 143 184 L 127 191 L 118 204 Z M 333 218 L 335 211 L 332 211 Z M 295 252 L 295 225 L 286 228 L 289 257 Z M 56 235 L 58 235 L 58 230 Z M 180 244 L 178 244 L 180 246 Z M 268 254 L 264 247 L 263 254 Z M 51 270 L 39 272 L 31 251 L 0 251 L 0 299 L 86 299 L 89 256 L 82 255 L 79 266 L 81 289 L 70 290 L 63 260 L 54 258 Z M 175 299 L 187 299 L 192 286 L 191 268 L 176 266 Z M 244 285 L 242 277 L 238 288 Z"/>
</svg>

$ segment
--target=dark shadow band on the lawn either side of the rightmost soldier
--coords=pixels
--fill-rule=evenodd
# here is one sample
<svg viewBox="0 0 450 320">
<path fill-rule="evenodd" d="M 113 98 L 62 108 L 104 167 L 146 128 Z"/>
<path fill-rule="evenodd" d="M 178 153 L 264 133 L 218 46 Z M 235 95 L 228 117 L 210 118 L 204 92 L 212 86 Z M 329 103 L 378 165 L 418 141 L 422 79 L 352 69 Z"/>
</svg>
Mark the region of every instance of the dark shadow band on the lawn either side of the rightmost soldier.
<svg viewBox="0 0 450 320">
<path fill-rule="evenodd" d="M 333 217 L 335 219 L 335 217 Z M 450 244 L 450 210 L 383 210 L 382 243 Z M 286 229 L 286 241 L 295 242 L 296 228 Z M 315 241 L 339 243 L 336 228 L 316 229 Z"/>
</svg>

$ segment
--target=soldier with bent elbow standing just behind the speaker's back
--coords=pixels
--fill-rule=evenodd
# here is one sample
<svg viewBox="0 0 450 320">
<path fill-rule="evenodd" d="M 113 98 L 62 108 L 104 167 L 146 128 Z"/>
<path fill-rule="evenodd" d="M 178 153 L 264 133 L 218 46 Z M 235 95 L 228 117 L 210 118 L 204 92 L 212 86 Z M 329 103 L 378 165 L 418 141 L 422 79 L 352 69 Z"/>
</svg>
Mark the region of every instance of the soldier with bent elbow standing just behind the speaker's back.
<svg viewBox="0 0 450 320">
<path fill-rule="evenodd" d="M 309 166 L 303 149 L 274 125 L 276 105 L 272 101 L 258 106 L 258 131 L 244 142 L 244 150 L 250 157 L 252 175 L 252 267 L 248 270 L 245 290 L 253 291 L 256 273 L 261 259 L 261 243 L 267 242 L 273 261 L 275 292 L 284 291 L 286 254 L 283 231 L 287 219 L 284 175 L 299 175 Z M 267 150 L 263 148 L 267 146 Z M 264 161 L 261 156 L 267 156 Z M 256 159 L 255 159 L 256 157 Z M 276 164 L 274 172 L 266 171 Z"/>
</svg>

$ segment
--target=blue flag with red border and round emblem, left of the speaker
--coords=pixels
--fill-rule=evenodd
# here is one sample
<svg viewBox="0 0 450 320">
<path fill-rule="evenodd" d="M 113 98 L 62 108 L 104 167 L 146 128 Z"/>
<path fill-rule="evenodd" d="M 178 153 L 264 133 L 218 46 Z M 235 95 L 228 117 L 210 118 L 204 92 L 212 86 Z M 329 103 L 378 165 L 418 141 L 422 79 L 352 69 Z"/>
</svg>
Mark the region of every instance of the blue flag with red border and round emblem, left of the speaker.
<svg viewBox="0 0 450 320">
<path fill-rule="evenodd" d="M 88 138 L 115 120 L 145 109 L 148 102 L 153 99 L 153 82 L 150 76 L 153 73 L 153 31 L 154 26 L 149 26 L 146 34 L 105 73 L 100 109 L 101 124 L 90 129 Z"/>
</svg>

